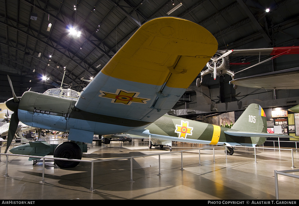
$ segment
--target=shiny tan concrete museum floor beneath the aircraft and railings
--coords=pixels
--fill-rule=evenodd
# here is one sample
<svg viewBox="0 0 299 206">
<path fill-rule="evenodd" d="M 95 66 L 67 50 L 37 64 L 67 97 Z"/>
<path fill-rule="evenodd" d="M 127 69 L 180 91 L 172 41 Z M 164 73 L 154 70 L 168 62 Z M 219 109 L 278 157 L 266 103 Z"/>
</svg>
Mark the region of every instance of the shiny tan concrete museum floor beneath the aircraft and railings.
<svg viewBox="0 0 299 206">
<path fill-rule="evenodd" d="M 180 144 L 173 146 L 172 152 L 199 147 L 209 146 Z M 45 162 L 45 182 L 41 183 L 42 162 L 33 165 L 27 157 L 9 156 L 6 172 L 6 157 L 1 155 L 1 199 L 275 200 L 274 170 L 297 169 L 292 167 L 291 152 L 258 148 L 255 161 L 251 149 L 237 147 L 227 159 L 223 147 L 201 150 L 201 165 L 198 150 L 183 152 L 182 170 L 181 152 L 170 153 L 167 147 L 149 149 L 147 142 L 140 140 L 133 144 L 112 142 L 108 147 L 94 143 L 83 155 L 84 160 L 164 155 L 160 155 L 160 175 L 159 155 L 134 158 L 132 179 L 130 159 L 94 163 L 93 188 L 89 162 L 80 162 L 71 169 Z M 298 153 L 293 152 L 295 167 L 299 167 Z M 278 175 L 279 199 L 298 199 L 298 183 L 297 178 Z"/>
</svg>

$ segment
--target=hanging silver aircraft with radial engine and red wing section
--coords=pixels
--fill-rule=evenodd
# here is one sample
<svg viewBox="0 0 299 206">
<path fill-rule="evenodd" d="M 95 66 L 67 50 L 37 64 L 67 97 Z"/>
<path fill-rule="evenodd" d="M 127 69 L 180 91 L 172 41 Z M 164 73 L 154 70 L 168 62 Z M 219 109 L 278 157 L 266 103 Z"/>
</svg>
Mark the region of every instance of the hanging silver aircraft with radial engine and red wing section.
<svg viewBox="0 0 299 206">
<path fill-rule="evenodd" d="M 208 69 L 201 71 L 200 73 L 201 77 L 196 79 L 196 86 L 200 87 L 203 77 L 207 74 L 213 74 L 214 80 L 216 80 L 217 75 L 221 76 L 221 75 L 229 74 L 232 80 L 234 80 L 235 74 L 285 54 L 299 54 L 299 46 L 218 50 L 216 54 L 207 63 L 206 67 L 208 67 Z M 264 61 L 261 61 L 255 65 L 252 65 L 248 68 L 242 69 L 241 71 L 233 72 L 230 70 L 230 65 L 247 65 L 250 63 L 249 62 L 231 63 L 229 61 L 229 56 L 240 56 L 240 57 L 259 56 L 260 58 L 261 55 L 270 55 L 272 57 Z M 234 88 L 237 88 L 237 85 L 234 85 Z"/>
</svg>

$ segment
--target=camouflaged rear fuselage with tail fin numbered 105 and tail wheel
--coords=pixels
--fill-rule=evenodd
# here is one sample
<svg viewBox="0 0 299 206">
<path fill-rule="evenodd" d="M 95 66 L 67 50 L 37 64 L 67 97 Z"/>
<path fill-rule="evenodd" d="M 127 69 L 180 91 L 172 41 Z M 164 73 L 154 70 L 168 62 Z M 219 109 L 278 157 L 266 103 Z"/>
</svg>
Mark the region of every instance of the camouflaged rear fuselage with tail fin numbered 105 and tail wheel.
<svg viewBox="0 0 299 206">
<path fill-rule="evenodd" d="M 166 145 L 170 151 L 172 141 L 227 145 L 231 146 L 226 147 L 228 155 L 234 153 L 234 146 L 257 147 L 267 137 L 291 137 L 267 133 L 266 115 L 258 104 L 250 104 L 231 128 L 164 115 L 145 129 L 135 129 L 129 134 L 149 137 L 149 148 Z"/>
</svg>

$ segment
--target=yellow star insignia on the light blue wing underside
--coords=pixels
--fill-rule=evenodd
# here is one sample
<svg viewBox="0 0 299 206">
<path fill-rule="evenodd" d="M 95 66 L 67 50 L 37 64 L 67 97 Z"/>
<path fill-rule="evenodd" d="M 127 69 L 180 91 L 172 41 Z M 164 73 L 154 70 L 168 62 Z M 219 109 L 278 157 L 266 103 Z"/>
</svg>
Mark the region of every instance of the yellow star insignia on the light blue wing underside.
<svg viewBox="0 0 299 206">
<path fill-rule="evenodd" d="M 99 95 L 99 97 L 112 99 L 112 103 L 122 103 L 126 105 L 130 105 L 132 102 L 146 104 L 147 101 L 150 100 L 137 97 L 138 94 L 140 94 L 138 92 L 128 92 L 120 89 L 116 90 L 116 93 L 109 93 L 105 91 L 100 91 L 100 93 L 101 94 Z"/>
</svg>

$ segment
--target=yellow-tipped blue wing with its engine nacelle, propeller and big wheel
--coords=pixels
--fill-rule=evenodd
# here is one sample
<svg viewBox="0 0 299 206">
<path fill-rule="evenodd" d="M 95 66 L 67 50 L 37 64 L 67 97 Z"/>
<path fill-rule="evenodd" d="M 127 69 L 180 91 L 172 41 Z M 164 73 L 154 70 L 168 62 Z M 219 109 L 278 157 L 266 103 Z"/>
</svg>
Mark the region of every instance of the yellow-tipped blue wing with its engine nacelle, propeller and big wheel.
<svg viewBox="0 0 299 206">
<path fill-rule="evenodd" d="M 28 126 L 69 132 L 70 141 L 57 146 L 54 157 L 81 159 L 77 142 L 91 143 L 94 134 L 144 128 L 172 109 L 216 50 L 216 39 L 200 25 L 160 17 L 138 28 L 77 100 L 33 91 L 16 97 L 10 84 L 13 98 L 6 105 L 14 113 L 5 152 L 20 120 Z"/>
</svg>

